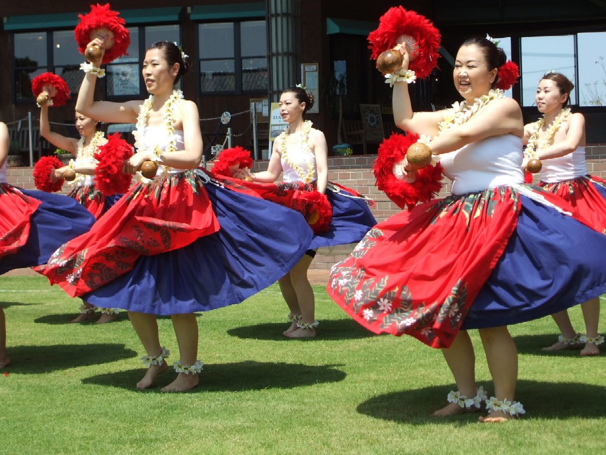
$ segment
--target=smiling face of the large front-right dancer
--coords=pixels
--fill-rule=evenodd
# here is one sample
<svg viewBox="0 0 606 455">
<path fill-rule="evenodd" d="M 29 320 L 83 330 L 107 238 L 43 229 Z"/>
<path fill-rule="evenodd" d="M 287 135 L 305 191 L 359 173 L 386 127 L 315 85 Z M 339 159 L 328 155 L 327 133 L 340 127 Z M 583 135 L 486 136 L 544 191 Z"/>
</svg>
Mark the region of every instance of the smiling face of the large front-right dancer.
<svg viewBox="0 0 606 455">
<path fill-rule="evenodd" d="M 454 87 L 468 103 L 486 95 L 492 87 L 498 70 L 488 70 L 488 64 L 482 49 L 477 45 L 465 45 L 459 48 L 454 62 Z"/>
</svg>

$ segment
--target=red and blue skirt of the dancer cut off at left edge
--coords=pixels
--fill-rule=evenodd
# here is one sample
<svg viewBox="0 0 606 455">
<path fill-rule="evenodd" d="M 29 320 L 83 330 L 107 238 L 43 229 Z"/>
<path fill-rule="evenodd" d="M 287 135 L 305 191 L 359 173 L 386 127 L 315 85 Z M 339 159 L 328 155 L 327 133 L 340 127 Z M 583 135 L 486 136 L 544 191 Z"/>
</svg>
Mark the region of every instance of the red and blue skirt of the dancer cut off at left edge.
<svg viewBox="0 0 606 455">
<path fill-rule="evenodd" d="M 95 217 L 70 197 L 0 183 L 0 274 L 47 262 Z"/>
</svg>

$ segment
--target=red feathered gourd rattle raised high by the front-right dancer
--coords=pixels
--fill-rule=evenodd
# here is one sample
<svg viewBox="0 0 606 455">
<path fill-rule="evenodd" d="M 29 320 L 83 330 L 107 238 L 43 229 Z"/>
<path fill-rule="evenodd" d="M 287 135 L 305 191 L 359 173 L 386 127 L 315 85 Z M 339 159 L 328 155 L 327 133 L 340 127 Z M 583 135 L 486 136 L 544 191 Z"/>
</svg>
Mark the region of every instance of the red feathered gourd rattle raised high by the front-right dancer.
<svg viewBox="0 0 606 455">
<path fill-rule="evenodd" d="M 424 16 L 401 6 L 391 7 L 379 19 L 379 28 L 368 35 L 371 59 L 376 59 L 382 73 L 395 73 L 402 67 L 402 54 L 393 49 L 398 42 L 406 46 L 410 56 L 408 69 L 417 78 L 426 78 L 438 67 L 440 33 Z"/>
</svg>

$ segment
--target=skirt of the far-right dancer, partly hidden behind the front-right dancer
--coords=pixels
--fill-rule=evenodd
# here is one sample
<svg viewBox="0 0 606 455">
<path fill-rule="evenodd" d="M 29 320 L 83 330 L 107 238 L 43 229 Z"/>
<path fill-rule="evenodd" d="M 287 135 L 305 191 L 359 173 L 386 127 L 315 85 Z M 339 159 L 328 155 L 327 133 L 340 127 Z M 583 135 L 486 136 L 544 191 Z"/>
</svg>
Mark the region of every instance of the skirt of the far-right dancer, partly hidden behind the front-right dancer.
<svg viewBox="0 0 606 455">
<path fill-rule="evenodd" d="M 606 181 L 585 175 L 558 183 L 539 183 L 543 189 L 567 201 L 588 226 L 606 234 Z"/>
</svg>

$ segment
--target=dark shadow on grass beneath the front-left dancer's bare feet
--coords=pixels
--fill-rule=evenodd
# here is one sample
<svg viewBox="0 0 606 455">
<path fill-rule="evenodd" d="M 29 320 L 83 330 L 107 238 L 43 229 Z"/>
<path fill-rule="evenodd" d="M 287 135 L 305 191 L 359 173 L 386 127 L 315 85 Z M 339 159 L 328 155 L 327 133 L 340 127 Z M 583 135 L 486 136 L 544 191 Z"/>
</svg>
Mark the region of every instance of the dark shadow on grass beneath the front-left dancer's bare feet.
<svg viewBox="0 0 606 455">
<path fill-rule="evenodd" d="M 292 389 L 319 383 L 339 382 L 345 373 L 336 369 L 339 365 L 302 365 L 284 362 L 237 362 L 204 365 L 200 385 L 188 393 L 241 392 L 264 389 Z M 82 380 L 85 384 L 135 389 L 145 369 L 130 369 L 99 374 Z M 146 392 L 159 393 L 160 389 L 175 379 L 175 371 L 169 368 L 156 378 L 153 388 Z"/>
</svg>

